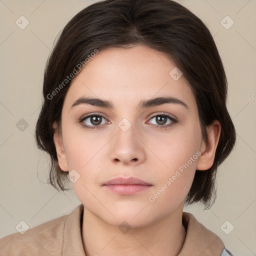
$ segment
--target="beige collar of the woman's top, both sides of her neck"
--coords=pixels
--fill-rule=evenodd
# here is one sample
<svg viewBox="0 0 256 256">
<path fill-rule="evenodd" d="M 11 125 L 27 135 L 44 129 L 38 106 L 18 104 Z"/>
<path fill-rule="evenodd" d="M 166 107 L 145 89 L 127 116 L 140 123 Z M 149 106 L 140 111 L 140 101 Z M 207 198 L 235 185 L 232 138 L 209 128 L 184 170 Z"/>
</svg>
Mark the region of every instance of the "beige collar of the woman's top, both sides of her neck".
<svg viewBox="0 0 256 256">
<path fill-rule="evenodd" d="M 78 205 L 66 218 L 62 255 L 86 256 L 82 243 L 83 204 Z M 182 223 L 186 229 L 186 237 L 178 256 L 187 256 L 191 252 L 198 256 L 219 256 L 224 244 L 221 239 L 204 227 L 196 218 L 183 211 Z"/>
</svg>

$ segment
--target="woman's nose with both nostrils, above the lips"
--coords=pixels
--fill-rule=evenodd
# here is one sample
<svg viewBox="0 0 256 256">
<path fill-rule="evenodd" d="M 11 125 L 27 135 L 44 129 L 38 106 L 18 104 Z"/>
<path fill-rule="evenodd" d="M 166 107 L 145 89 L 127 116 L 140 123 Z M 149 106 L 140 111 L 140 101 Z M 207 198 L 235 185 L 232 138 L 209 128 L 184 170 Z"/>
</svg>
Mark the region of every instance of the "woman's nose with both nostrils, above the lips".
<svg viewBox="0 0 256 256">
<path fill-rule="evenodd" d="M 127 130 L 123 129 L 122 125 L 117 126 L 111 146 L 110 158 L 114 163 L 137 165 L 145 160 L 145 145 L 134 125 Z"/>
</svg>

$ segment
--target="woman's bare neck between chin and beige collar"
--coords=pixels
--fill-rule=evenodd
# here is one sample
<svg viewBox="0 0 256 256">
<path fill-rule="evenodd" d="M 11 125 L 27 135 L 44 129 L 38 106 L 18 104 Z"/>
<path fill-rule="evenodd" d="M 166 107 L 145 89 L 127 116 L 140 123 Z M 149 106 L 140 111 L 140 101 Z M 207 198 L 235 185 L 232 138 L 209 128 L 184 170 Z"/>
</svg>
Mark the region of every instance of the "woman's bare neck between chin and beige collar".
<svg viewBox="0 0 256 256">
<path fill-rule="evenodd" d="M 95 216 L 84 207 L 82 239 L 86 256 L 176 256 L 186 235 L 182 225 L 183 204 L 170 215 L 127 232 Z"/>
</svg>

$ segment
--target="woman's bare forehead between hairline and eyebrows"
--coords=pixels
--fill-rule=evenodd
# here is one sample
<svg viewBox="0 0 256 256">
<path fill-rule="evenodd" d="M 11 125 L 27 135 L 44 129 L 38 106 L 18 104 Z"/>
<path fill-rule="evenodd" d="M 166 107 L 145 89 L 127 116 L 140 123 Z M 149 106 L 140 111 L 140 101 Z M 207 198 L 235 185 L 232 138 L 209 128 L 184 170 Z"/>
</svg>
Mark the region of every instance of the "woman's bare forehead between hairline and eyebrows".
<svg viewBox="0 0 256 256">
<path fill-rule="evenodd" d="M 73 79 L 65 103 L 71 106 L 81 96 L 93 96 L 135 105 L 151 97 L 172 96 L 193 105 L 186 80 L 170 75 L 176 68 L 165 54 L 143 45 L 102 50 Z"/>
</svg>

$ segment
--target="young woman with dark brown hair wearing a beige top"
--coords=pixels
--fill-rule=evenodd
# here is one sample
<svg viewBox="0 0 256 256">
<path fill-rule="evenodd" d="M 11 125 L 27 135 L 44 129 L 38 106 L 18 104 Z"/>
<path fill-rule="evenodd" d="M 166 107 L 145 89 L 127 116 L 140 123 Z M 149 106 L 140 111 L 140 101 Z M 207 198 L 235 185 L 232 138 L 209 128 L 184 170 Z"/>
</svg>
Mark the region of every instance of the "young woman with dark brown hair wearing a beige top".
<svg viewBox="0 0 256 256">
<path fill-rule="evenodd" d="M 68 215 L 0 239 L 2 255 L 231 255 L 183 212 L 215 199 L 235 143 L 227 82 L 202 21 L 171 0 L 105 0 L 64 27 L 46 64 L 37 145 Z M 4 246 L 4 247 L 3 247 Z"/>
</svg>

